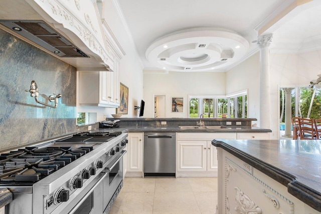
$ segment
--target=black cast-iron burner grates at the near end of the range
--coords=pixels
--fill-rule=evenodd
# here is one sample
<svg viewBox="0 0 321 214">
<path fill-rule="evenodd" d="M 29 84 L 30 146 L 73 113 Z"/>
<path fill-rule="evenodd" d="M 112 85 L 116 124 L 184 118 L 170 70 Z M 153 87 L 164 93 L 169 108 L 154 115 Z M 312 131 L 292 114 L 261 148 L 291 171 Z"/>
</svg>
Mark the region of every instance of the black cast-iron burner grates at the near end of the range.
<svg viewBox="0 0 321 214">
<path fill-rule="evenodd" d="M 1 154 L 1 182 L 36 182 L 93 150 L 92 146 L 26 147 Z"/>
</svg>

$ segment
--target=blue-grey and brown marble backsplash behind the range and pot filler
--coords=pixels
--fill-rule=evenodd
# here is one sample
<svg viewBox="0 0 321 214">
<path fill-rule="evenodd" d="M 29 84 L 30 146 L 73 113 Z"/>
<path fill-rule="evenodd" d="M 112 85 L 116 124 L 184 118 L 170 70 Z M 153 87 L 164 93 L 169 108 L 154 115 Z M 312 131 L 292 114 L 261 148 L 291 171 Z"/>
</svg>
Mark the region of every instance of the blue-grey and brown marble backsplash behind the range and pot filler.
<svg viewBox="0 0 321 214">
<path fill-rule="evenodd" d="M 61 93 L 56 109 L 39 100 Z M 0 149 L 76 132 L 76 68 L 0 29 Z M 54 102 L 49 102 L 54 104 Z"/>
</svg>

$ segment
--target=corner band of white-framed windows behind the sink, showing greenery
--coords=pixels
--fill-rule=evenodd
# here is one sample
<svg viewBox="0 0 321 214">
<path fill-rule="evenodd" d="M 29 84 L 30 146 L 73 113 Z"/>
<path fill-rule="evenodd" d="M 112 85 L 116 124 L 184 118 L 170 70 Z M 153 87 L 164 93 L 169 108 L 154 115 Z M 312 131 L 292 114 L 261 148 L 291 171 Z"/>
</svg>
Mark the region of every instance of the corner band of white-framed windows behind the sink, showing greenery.
<svg viewBox="0 0 321 214">
<path fill-rule="evenodd" d="M 190 95 L 189 118 L 247 118 L 247 90 L 222 96 Z"/>
</svg>

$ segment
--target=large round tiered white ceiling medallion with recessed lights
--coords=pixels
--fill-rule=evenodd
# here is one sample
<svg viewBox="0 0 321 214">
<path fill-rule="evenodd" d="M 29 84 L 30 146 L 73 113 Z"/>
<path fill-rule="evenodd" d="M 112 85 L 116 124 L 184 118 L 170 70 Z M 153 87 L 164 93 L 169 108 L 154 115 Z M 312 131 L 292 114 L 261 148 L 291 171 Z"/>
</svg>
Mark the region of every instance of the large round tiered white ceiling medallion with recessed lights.
<svg viewBox="0 0 321 214">
<path fill-rule="evenodd" d="M 159 38 L 146 50 L 146 58 L 170 71 L 213 71 L 242 58 L 248 41 L 225 29 L 194 28 Z"/>
</svg>

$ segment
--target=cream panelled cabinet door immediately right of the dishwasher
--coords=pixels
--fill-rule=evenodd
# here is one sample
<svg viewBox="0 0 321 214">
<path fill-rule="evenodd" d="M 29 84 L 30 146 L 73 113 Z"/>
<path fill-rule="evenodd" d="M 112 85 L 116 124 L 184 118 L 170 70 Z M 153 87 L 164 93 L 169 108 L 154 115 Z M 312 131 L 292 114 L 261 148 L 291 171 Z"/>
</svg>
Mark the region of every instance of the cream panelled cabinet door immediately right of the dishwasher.
<svg viewBox="0 0 321 214">
<path fill-rule="evenodd" d="M 177 142 L 177 171 L 206 171 L 206 141 Z"/>
</svg>

